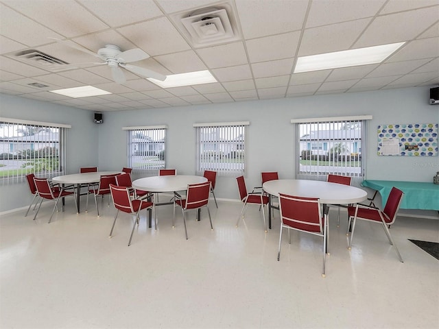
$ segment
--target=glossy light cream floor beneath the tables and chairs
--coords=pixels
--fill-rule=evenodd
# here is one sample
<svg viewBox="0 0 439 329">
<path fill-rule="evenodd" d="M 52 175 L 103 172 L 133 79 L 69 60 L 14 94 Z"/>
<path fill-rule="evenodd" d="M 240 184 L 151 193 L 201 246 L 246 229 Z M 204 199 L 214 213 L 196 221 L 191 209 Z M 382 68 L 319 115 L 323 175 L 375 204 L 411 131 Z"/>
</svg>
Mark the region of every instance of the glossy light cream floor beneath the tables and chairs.
<svg viewBox="0 0 439 329">
<path fill-rule="evenodd" d="M 36 221 L 25 210 L 0 219 L 0 328 L 439 327 L 439 261 L 408 241 L 439 242 L 434 219 L 396 220 L 400 263 L 382 228 L 363 221 L 348 251 L 333 208 L 322 278 L 322 240 L 292 232 L 288 245 L 285 232 L 278 262 L 278 213 L 265 234 L 257 206 L 235 228 L 241 204 L 211 202 L 213 231 L 205 210 L 201 222 L 189 212 L 189 240 L 181 212 L 173 229 L 162 206 L 158 230 L 143 213 L 130 247 L 129 215 L 108 238 L 106 202 L 99 218 L 69 202 L 48 224 L 51 206 Z"/>
</svg>

